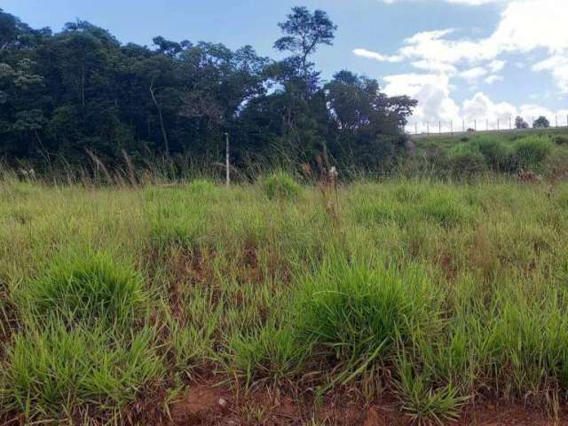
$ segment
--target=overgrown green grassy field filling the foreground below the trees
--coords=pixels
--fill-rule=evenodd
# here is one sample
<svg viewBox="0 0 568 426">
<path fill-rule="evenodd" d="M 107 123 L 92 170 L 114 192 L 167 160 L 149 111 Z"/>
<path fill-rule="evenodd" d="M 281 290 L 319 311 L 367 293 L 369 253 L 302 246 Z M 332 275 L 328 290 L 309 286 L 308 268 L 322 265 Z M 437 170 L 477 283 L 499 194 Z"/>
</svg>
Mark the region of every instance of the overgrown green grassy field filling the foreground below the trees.
<svg viewBox="0 0 568 426">
<path fill-rule="evenodd" d="M 241 420 L 185 424 L 350 424 L 320 413 L 330 398 L 419 424 L 499 398 L 558 416 L 566 241 L 565 183 L 7 180 L 0 419 L 173 422 L 196 383 Z M 255 392 L 302 421 L 234 402 Z"/>
</svg>

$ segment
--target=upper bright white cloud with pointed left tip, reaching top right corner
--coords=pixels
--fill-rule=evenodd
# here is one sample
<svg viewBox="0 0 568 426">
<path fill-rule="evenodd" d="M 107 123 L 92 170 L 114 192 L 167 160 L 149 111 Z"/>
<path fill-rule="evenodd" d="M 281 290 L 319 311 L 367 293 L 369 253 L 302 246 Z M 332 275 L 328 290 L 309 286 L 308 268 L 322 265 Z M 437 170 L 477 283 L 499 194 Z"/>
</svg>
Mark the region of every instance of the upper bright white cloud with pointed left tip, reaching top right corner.
<svg viewBox="0 0 568 426">
<path fill-rule="evenodd" d="M 388 3 L 395 1 L 389 0 Z M 499 0 L 445 1 L 472 5 L 500 3 Z M 408 60 L 415 67 L 443 73 L 454 72 L 455 67 L 468 63 L 469 67 L 486 67 L 488 71 L 485 74 L 496 74 L 505 66 L 504 61 L 498 59 L 501 54 L 545 49 L 550 58 L 534 65 L 533 70 L 547 71 L 554 77 L 559 90 L 568 92 L 568 30 L 565 28 L 568 1 L 509 0 L 501 3 L 505 7 L 500 22 L 488 37 L 455 39 L 451 38 L 455 34 L 451 28 L 426 31 L 406 38 L 403 46 L 392 56 L 374 51 L 365 51 L 365 55 L 359 56 L 389 62 Z M 468 78 L 468 72 L 464 71 L 464 78 Z M 480 73 L 479 70 L 477 72 Z"/>
</svg>

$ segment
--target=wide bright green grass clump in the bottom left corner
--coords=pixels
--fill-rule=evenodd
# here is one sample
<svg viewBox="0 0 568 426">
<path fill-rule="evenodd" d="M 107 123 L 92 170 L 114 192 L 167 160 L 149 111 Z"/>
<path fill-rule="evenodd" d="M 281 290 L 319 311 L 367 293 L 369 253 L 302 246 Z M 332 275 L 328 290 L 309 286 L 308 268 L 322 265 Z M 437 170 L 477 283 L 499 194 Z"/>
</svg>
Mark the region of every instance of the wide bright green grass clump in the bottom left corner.
<svg viewBox="0 0 568 426">
<path fill-rule="evenodd" d="M 77 414 L 83 420 L 119 414 L 163 366 L 148 330 L 128 342 L 106 330 L 99 325 L 70 331 L 59 322 L 16 335 L 0 405 L 26 413 L 28 422 L 67 424 L 63 420 Z"/>
</svg>

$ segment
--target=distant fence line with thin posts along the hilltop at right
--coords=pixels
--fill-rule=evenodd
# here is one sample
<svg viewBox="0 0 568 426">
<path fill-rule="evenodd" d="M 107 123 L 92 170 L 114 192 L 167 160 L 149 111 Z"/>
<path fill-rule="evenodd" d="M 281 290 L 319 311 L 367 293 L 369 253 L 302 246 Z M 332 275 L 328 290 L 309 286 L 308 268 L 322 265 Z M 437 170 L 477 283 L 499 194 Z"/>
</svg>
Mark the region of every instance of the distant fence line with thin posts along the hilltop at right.
<svg viewBox="0 0 568 426">
<path fill-rule="evenodd" d="M 535 118 L 532 117 L 531 121 L 525 120 L 527 127 L 517 128 L 515 125 L 514 118 L 497 119 L 497 120 L 461 120 L 461 122 L 454 121 L 427 121 L 427 122 L 409 122 L 406 124 L 404 130 L 405 133 L 411 135 L 443 135 L 443 134 L 455 134 L 455 133 L 466 133 L 469 131 L 511 131 L 511 130 L 529 130 L 529 129 L 540 129 L 540 127 L 534 127 Z M 565 117 L 562 115 L 555 115 L 552 119 L 547 118 L 549 122 L 550 129 L 556 128 L 568 128 L 568 115 Z"/>
</svg>

